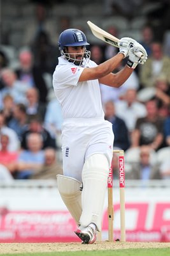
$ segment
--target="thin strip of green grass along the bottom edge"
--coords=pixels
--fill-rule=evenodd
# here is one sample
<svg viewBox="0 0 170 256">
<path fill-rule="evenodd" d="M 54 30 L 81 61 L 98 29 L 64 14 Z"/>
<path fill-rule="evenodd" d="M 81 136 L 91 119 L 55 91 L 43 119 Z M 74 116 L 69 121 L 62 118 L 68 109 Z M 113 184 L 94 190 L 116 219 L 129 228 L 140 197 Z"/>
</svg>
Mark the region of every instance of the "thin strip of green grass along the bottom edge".
<svg viewBox="0 0 170 256">
<path fill-rule="evenodd" d="M 169 256 L 170 248 L 101 250 L 79 252 L 45 252 L 45 253 L 15 253 L 3 256 Z"/>
</svg>

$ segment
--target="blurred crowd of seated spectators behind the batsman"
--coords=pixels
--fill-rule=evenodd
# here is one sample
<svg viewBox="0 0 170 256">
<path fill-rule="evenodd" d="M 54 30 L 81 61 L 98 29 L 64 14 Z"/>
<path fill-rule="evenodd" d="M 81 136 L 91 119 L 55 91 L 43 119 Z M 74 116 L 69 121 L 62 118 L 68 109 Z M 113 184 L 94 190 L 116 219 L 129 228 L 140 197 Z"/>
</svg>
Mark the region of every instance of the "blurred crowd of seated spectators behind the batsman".
<svg viewBox="0 0 170 256">
<path fill-rule="evenodd" d="M 35 19 L 25 29 L 26 47 L 18 51 L 16 68 L 11 68 L 0 47 L 0 180 L 55 179 L 62 173 L 62 115 L 52 90 L 59 56 L 53 38 L 55 35 L 57 42 L 57 33 L 46 20 L 45 7 L 37 6 Z M 67 17 L 62 25 L 61 30 L 70 28 Z M 108 32 L 118 36 L 116 26 L 108 27 Z M 164 53 L 163 42 L 155 40 L 150 24 L 143 26 L 141 35 L 148 60 L 120 88 L 100 84 L 103 109 L 106 120 L 113 124 L 114 146 L 127 154 L 131 166 L 127 179 L 168 179 L 170 157 L 160 161 L 157 156 L 162 148 L 170 148 L 170 57 Z M 92 44 L 90 51 L 91 59 L 99 64 L 118 49 Z M 124 62 L 117 70 L 122 65 Z M 117 163 L 113 156 L 115 173 Z"/>
</svg>

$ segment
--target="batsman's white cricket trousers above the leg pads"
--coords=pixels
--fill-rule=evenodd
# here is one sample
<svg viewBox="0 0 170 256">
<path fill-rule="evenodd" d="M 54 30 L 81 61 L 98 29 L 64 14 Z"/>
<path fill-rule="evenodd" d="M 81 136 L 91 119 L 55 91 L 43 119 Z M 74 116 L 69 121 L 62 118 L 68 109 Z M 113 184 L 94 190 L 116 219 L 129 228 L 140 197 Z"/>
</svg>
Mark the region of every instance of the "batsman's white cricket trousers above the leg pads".
<svg viewBox="0 0 170 256">
<path fill-rule="evenodd" d="M 103 118 L 69 118 L 62 124 L 62 161 L 65 176 L 81 180 L 83 164 L 93 154 L 104 154 L 111 166 L 114 134 Z"/>
</svg>

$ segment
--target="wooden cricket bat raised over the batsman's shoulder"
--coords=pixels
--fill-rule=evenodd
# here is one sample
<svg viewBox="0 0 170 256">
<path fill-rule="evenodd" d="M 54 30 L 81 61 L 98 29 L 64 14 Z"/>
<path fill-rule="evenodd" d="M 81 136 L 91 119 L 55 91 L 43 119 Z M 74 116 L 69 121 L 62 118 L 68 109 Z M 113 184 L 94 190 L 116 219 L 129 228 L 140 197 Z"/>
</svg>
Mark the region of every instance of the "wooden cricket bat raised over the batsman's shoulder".
<svg viewBox="0 0 170 256">
<path fill-rule="evenodd" d="M 110 44 L 112 46 L 118 47 L 118 42 L 119 39 L 116 36 L 111 35 L 110 33 L 104 31 L 103 29 L 97 27 L 94 23 L 92 23 L 90 20 L 87 21 L 87 24 L 89 25 L 92 33 L 94 36 L 96 36 L 97 38 L 103 40 L 104 42 L 106 42 L 107 44 Z M 131 45 L 133 46 L 134 42 L 136 42 L 135 40 L 132 40 Z M 132 47 L 131 46 L 131 47 Z M 136 56 L 138 56 L 139 58 L 143 57 L 143 53 L 142 52 L 136 52 L 135 53 Z"/>
</svg>

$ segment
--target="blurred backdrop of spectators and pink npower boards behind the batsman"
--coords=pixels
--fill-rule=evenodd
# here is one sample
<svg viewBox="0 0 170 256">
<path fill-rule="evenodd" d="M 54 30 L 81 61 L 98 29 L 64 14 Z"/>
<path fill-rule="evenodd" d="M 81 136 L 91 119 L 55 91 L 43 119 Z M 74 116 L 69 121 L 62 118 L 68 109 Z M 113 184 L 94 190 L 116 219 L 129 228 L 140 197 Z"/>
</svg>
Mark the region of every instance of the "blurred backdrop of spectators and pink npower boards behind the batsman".
<svg viewBox="0 0 170 256">
<path fill-rule="evenodd" d="M 134 38 L 148 53 L 120 88 L 100 84 L 101 97 L 114 147 L 125 151 L 127 241 L 170 241 L 169 16 L 169 0 L 0 0 L 0 242 L 78 241 L 55 179 L 62 174 L 62 115 L 52 74 L 67 28 L 85 33 L 97 64 L 117 54 L 92 35 L 88 20 Z M 117 239 L 116 154 L 113 177 Z M 103 240 L 107 232 L 106 198 Z"/>
</svg>

